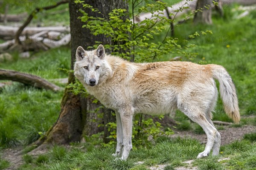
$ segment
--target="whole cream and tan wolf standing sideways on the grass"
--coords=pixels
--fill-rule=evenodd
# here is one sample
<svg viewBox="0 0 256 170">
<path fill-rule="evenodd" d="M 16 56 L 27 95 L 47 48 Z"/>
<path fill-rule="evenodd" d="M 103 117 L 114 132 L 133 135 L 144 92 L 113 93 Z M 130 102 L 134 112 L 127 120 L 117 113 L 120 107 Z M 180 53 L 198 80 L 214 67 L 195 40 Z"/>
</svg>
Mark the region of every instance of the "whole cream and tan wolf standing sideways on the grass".
<svg viewBox="0 0 256 170">
<path fill-rule="evenodd" d="M 127 159 L 132 149 L 132 119 L 136 113 L 168 114 L 179 109 L 200 125 L 207 144 L 197 158 L 218 155 L 221 135 L 212 123 L 219 82 L 224 110 L 235 123 L 240 121 L 235 85 L 221 65 L 192 62 L 133 63 L 96 50 L 76 50 L 74 74 L 89 94 L 116 113 L 116 152 Z"/>
</svg>

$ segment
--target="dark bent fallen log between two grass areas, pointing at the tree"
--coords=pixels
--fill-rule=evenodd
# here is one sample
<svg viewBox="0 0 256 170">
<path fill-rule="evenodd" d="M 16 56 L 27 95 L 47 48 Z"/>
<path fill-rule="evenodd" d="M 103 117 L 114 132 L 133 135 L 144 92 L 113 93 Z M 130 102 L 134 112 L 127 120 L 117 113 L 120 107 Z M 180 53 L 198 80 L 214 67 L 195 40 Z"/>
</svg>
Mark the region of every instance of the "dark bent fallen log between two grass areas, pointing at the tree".
<svg viewBox="0 0 256 170">
<path fill-rule="evenodd" d="M 41 77 L 13 70 L 0 69 L 0 80 L 12 80 L 16 82 L 21 82 L 25 85 L 31 85 L 35 88 L 44 88 L 52 91 L 62 90 L 61 87 L 52 84 L 47 80 L 42 79 Z"/>
</svg>

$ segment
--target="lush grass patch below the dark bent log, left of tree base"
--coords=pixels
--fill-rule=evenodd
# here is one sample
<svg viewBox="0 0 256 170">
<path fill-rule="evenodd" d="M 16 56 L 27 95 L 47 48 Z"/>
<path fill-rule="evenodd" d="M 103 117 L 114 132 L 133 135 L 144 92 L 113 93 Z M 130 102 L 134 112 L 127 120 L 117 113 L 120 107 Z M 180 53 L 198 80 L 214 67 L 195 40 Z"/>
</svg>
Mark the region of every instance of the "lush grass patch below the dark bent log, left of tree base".
<svg viewBox="0 0 256 170">
<path fill-rule="evenodd" d="M 61 92 L 38 90 L 18 83 L 0 93 L 0 146 L 35 142 L 58 118 Z"/>
</svg>

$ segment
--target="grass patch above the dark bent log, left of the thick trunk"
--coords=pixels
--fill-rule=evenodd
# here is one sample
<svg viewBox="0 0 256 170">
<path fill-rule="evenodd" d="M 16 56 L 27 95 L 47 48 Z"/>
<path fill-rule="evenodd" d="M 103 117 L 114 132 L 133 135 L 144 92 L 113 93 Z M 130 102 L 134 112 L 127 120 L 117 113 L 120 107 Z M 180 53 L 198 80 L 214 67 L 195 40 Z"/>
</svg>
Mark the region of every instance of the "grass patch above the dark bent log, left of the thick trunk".
<svg viewBox="0 0 256 170">
<path fill-rule="evenodd" d="M 67 77 L 70 69 L 70 49 L 67 47 L 54 48 L 32 54 L 30 58 L 18 58 L 13 62 L 1 62 L 0 68 L 34 74 L 45 79 Z"/>
</svg>

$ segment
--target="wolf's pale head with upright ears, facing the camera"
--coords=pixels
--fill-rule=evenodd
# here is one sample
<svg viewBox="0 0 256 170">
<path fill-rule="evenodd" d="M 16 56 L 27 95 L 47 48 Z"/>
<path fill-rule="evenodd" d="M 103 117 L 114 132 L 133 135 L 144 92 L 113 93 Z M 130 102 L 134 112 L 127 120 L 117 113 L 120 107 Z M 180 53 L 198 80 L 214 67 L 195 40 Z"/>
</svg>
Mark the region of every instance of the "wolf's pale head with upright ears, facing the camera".
<svg viewBox="0 0 256 170">
<path fill-rule="evenodd" d="M 99 45 L 96 50 L 85 51 L 79 46 L 76 49 L 76 62 L 74 66 L 75 76 L 84 85 L 95 86 L 101 83 L 109 75 L 111 70 L 105 60 L 105 49 Z"/>
</svg>

